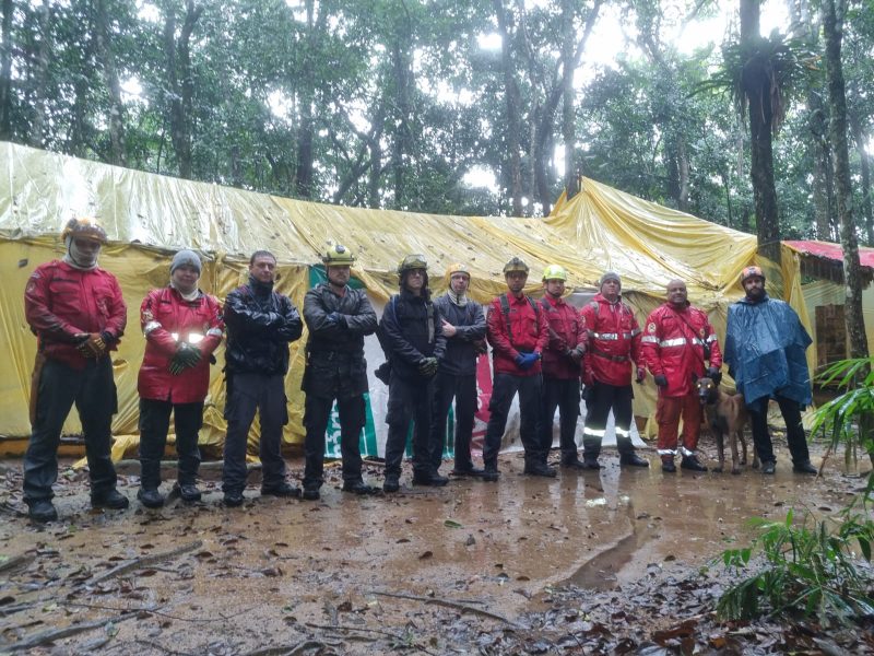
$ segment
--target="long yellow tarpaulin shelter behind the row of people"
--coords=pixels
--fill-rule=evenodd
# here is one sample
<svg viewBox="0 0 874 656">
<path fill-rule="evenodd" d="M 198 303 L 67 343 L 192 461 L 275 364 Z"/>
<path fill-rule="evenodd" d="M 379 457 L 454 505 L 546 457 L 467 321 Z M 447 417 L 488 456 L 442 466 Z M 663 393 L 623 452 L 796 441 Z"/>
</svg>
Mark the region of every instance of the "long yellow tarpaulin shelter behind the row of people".
<svg viewBox="0 0 874 656">
<path fill-rule="evenodd" d="M 203 256 L 201 288 L 220 298 L 246 281 L 250 253 L 272 250 L 280 263 L 277 290 L 298 307 L 318 276 L 314 263 L 319 254 L 335 243 L 355 254 L 353 276 L 379 306 L 397 291 L 394 269 L 410 253 L 427 257 L 438 293 L 446 289 L 445 268 L 468 262 L 471 295 L 481 303 L 506 290 L 501 269 L 512 256 L 531 267 L 529 292 L 540 291 L 541 272 L 551 263 L 565 267 L 568 286 L 582 290 L 592 290 L 603 271 L 615 270 L 641 323 L 662 302 L 668 282 L 682 278 L 690 300 L 710 314 L 720 335 L 728 305 L 741 294 L 737 273 L 754 260 L 756 250 L 752 235 L 588 178 L 580 194 L 563 199 L 545 219 L 446 216 L 292 200 L 0 143 L 0 355 L 10 363 L 9 375 L 0 382 L 2 435 L 29 433 L 27 398 L 36 340 L 23 315 L 26 279 L 36 265 L 62 255 L 58 233 L 76 215 L 96 216 L 106 227 L 110 244 L 101 255 L 101 266 L 119 278 L 129 308 L 128 330 L 114 361 L 117 436 L 137 433 L 137 373 L 144 349 L 140 303 L 150 289 L 167 283 L 172 255 L 180 247 Z M 302 442 L 304 434 L 299 383 L 305 340 L 306 333 L 292 344 L 286 380 L 292 421 L 285 438 L 292 443 Z M 373 370 L 381 355 L 373 347 L 367 354 Z M 221 348 L 216 356 L 221 364 Z M 385 394 L 385 388 L 374 380 L 371 391 Z M 636 413 L 649 415 L 654 388 L 636 387 Z M 222 375 L 214 367 L 201 433 L 204 444 L 223 440 L 223 406 Z M 381 409 L 385 403 L 370 406 Z M 382 421 L 375 417 L 368 423 L 376 440 Z M 75 413 L 66 430 L 78 432 Z"/>
</svg>

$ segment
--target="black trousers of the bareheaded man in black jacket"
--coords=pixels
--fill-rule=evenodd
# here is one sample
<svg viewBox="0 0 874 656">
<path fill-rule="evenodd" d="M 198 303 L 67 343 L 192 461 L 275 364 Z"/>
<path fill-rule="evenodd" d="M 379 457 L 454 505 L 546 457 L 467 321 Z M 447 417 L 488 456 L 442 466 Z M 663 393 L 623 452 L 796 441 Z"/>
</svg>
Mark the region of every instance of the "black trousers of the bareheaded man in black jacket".
<svg viewBox="0 0 874 656">
<path fill-rule="evenodd" d="M 225 405 L 227 435 L 222 473 L 225 492 L 243 492 L 246 488 L 246 443 L 256 410 L 261 421 L 261 487 L 276 488 L 285 482 L 281 450 L 282 426 L 288 423 L 285 377 L 282 374 L 232 374 Z"/>
</svg>

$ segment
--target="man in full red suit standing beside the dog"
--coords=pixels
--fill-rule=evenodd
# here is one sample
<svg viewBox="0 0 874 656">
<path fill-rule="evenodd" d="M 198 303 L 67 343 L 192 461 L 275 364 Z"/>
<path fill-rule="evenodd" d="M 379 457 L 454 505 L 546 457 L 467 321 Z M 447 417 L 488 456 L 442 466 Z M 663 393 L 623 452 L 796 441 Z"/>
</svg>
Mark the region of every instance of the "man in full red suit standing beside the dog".
<svg viewBox="0 0 874 656">
<path fill-rule="evenodd" d="M 676 471 L 677 431 L 683 417 L 683 455 L 680 466 L 692 471 L 707 471 L 698 461 L 695 448 L 701 429 L 701 403 L 695 380 L 709 376 L 719 385 L 722 353 L 707 314 L 687 301 L 686 283 L 668 283 L 668 302 L 647 317 L 641 340 L 643 360 L 659 387 L 656 420 L 659 422 L 659 455 L 662 471 Z M 709 366 L 706 362 L 709 361 Z"/>
</svg>

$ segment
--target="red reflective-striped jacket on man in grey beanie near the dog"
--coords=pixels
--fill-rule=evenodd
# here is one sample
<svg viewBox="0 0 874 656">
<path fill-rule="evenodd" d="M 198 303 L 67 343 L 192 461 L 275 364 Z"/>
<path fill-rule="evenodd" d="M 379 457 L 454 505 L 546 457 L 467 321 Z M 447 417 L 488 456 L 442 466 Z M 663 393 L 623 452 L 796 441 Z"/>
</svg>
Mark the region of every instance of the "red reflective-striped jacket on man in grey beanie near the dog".
<svg viewBox="0 0 874 656">
<path fill-rule="evenodd" d="M 631 384 L 631 363 L 643 367 L 640 356 L 640 326 L 635 313 L 619 298 L 611 303 L 601 294 L 580 312 L 589 340 L 582 379 L 624 386 Z"/>
</svg>

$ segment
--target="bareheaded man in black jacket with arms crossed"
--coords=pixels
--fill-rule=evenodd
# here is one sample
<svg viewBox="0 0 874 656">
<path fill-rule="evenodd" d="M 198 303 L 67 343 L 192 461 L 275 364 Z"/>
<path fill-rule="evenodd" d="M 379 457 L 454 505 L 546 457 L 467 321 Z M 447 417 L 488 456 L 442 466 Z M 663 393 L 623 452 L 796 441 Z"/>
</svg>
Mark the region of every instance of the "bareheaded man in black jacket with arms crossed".
<svg viewBox="0 0 874 656">
<path fill-rule="evenodd" d="M 282 427 L 288 423 L 288 342 L 300 339 L 304 324 L 292 300 L 273 291 L 275 279 L 276 258 L 268 250 L 257 250 L 249 259 L 248 284 L 231 292 L 225 302 L 227 436 L 222 490 L 229 506 L 244 502 L 246 440 L 256 410 L 261 421 L 261 494 L 300 494 L 285 480 L 281 446 Z"/>
</svg>

